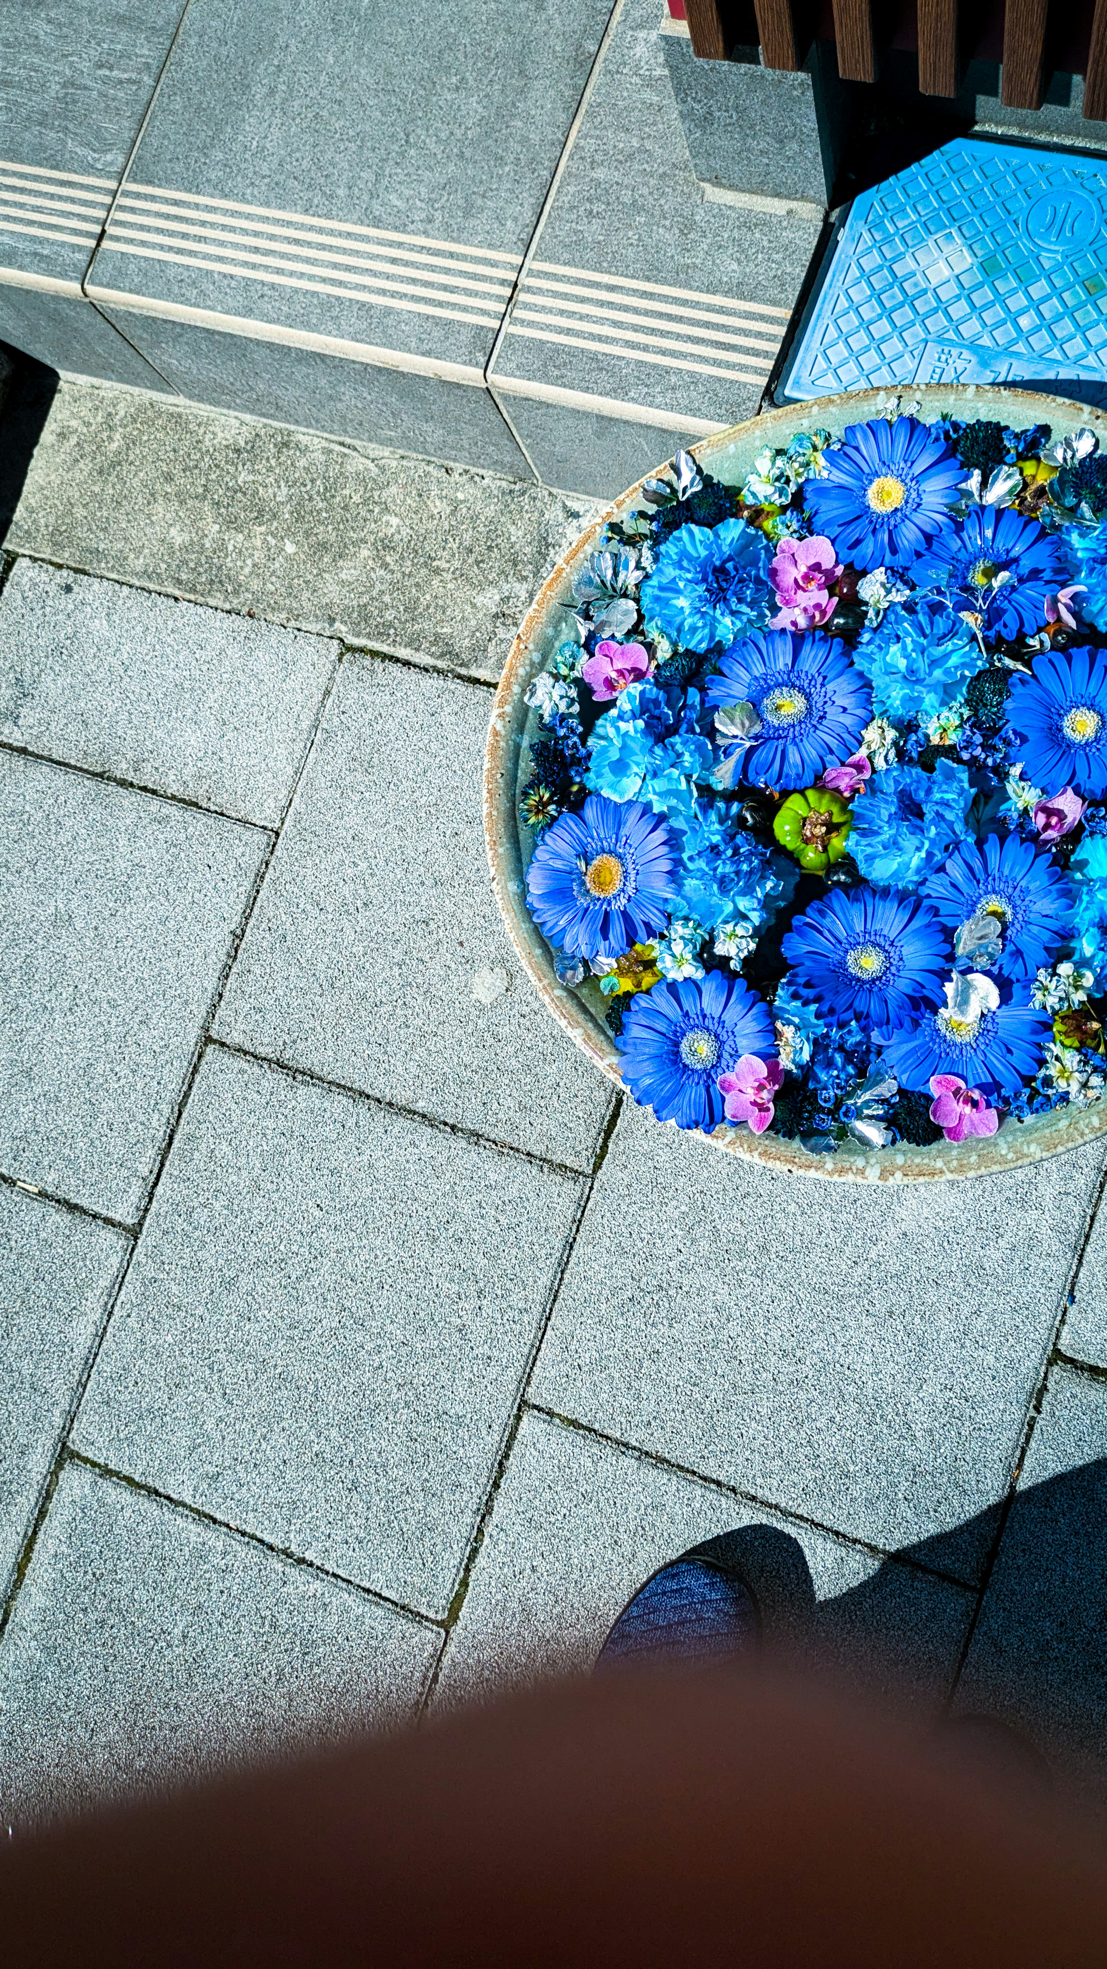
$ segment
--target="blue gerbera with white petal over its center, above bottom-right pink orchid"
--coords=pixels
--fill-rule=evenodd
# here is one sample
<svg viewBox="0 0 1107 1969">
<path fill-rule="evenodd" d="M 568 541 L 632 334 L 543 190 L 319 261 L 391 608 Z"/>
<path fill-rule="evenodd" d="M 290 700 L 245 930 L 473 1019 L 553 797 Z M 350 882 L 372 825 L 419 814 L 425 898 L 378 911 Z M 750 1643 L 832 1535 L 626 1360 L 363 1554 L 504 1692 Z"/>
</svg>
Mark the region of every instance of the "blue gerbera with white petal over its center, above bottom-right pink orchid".
<svg viewBox="0 0 1107 1969">
<path fill-rule="evenodd" d="M 965 1087 L 985 1095 L 1012 1095 L 1042 1065 L 1052 1032 L 1048 1012 L 1026 1000 L 1030 984 L 1016 986 L 1012 1004 L 983 1012 L 971 1026 L 949 1018 L 945 992 L 936 992 L 916 1026 L 886 1034 L 880 1061 L 914 1093 L 930 1089 L 932 1073 L 957 1073 Z"/>
</svg>

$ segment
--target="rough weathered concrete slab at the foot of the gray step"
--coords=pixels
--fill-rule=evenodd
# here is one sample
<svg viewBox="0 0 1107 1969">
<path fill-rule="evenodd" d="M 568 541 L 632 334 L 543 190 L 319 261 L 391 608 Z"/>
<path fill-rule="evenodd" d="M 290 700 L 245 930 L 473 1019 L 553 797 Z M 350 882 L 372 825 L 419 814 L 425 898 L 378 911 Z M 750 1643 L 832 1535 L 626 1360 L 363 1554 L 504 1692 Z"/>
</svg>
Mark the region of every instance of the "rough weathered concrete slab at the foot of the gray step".
<svg viewBox="0 0 1107 1969">
<path fill-rule="evenodd" d="M 536 484 L 61 384 L 4 545 L 496 677 L 589 516 Z"/>
</svg>

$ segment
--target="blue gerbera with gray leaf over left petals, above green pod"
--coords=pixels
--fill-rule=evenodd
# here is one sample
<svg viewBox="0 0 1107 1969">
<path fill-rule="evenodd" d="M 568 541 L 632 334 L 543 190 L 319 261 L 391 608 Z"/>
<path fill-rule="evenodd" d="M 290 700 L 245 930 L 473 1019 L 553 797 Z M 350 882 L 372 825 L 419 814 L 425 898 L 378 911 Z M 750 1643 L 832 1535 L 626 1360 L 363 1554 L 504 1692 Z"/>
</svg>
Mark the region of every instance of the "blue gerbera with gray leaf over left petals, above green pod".
<svg viewBox="0 0 1107 1969">
<path fill-rule="evenodd" d="M 827 766 L 841 766 L 873 717 L 873 693 L 845 644 L 786 628 L 735 642 L 703 701 L 709 709 L 752 703 L 760 732 L 741 770 L 772 788 L 810 786 Z"/>
</svg>

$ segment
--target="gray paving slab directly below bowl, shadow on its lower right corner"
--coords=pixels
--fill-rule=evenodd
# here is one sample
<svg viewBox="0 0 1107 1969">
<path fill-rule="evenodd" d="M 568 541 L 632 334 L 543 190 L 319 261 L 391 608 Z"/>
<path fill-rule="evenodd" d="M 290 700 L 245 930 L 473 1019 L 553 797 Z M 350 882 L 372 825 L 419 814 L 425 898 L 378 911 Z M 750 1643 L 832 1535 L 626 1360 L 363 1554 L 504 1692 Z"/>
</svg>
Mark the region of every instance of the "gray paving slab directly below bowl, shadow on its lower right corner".
<svg viewBox="0 0 1107 1969">
<path fill-rule="evenodd" d="M 973 1577 L 1101 1158 L 843 1193 L 626 1107 L 534 1398 Z"/>
</svg>

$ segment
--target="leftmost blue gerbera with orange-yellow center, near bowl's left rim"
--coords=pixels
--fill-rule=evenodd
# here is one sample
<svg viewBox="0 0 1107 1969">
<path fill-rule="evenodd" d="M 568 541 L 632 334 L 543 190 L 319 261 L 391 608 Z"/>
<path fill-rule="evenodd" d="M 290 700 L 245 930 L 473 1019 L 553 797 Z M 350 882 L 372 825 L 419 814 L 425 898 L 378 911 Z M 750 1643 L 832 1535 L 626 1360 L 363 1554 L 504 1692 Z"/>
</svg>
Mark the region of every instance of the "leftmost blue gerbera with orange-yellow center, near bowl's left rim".
<svg viewBox="0 0 1107 1969">
<path fill-rule="evenodd" d="M 668 921 L 674 890 L 668 821 L 640 799 L 589 794 L 544 833 L 530 868 L 530 914 L 569 957 L 622 957 Z"/>
</svg>

